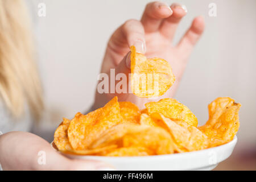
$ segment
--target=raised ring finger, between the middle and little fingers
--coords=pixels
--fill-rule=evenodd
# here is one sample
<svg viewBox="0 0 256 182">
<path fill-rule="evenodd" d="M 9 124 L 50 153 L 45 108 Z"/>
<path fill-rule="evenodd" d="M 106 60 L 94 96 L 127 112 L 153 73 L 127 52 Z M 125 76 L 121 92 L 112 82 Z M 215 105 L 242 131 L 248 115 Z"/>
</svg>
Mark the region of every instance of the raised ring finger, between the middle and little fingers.
<svg viewBox="0 0 256 182">
<path fill-rule="evenodd" d="M 180 5 L 174 3 L 171 5 L 172 15 L 163 20 L 159 31 L 166 36 L 168 39 L 172 40 L 175 35 L 175 31 L 179 26 L 180 20 L 187 14 L 187 8 L 185 5 Z"/>
</svg>

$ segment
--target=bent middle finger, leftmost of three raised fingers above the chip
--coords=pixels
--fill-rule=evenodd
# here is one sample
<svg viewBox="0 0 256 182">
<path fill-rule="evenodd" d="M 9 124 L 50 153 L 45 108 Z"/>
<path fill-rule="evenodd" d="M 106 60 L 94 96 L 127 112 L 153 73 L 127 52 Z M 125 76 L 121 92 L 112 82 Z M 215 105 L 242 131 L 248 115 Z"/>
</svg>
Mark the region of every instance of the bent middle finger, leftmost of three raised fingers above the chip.
<svg viewBox="0 0 256 182">
<path fill-rule="evenodd" d="M 168 18 L 171 15 L 172 10 L 166 3 L 148 3 L 141 18 L 145 32 L 150 33 L 158 30 L 163 18 Z"/>
</svg>

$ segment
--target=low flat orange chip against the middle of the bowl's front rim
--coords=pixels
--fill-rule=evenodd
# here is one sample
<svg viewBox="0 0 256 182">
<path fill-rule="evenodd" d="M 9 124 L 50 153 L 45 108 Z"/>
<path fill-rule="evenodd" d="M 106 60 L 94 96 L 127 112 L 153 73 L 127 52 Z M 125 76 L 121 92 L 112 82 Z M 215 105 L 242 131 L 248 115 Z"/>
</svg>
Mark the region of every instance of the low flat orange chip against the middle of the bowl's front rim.
<svg viewBox="0 0 256 182">
<path fill-rule="evenodd" d="M 105 156 L 147 156 L 147 148 L 144 147 L 122 147 L 117 148 Z"/>
</svg>

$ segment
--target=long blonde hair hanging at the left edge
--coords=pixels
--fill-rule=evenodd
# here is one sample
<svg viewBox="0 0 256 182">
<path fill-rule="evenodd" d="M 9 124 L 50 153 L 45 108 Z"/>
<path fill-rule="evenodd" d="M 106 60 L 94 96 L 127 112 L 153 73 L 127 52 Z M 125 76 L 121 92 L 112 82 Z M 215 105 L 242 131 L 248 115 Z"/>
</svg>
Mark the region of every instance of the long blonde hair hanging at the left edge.
<svg viewBox="0 0 256 182">
<path fill-rule="evenodd" d="M 35 119 L 43 109 L 30 22 L 22 0 L 0 0 L 0 95 L 14 117 L 27 103 Z"/>
</svg>

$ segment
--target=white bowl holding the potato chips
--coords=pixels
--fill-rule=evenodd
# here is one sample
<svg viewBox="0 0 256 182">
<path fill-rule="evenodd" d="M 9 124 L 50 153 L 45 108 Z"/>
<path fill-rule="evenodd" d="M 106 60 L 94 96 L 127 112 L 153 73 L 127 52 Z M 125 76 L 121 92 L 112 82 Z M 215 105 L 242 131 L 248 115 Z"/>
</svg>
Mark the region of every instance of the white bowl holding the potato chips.
<svg viewBox="0 0 256 182">
<path fill-rule="evenodd" d="M 222 144 L 218 147 L 180 154 L 154 156 L 106 157 L 71 154 L 63 155 L 71 159 L 101 160 L 112 164 L 117 170 L 212 170 L 218 163 L 227 159 L 232 154 L 236 143 L 237 136 L 235 136 L 231 142 Z M 54 150 L 56 150 L 56 148 L 54 148 Z"/>
</svg>

